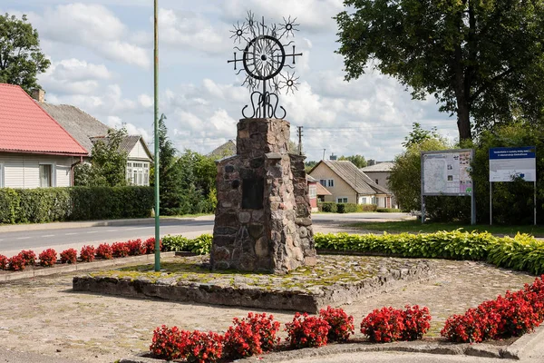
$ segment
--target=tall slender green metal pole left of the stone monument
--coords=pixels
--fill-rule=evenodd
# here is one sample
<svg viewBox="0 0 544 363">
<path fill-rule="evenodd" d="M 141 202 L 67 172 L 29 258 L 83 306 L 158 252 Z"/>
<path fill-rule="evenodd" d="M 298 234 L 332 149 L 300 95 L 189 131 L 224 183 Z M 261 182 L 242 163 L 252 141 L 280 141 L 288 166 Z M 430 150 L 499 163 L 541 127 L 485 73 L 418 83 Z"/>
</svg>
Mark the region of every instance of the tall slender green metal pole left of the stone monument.
<svg viewBox="0 0 544 363">
<path fill-rule="evenodd" d="M 155 86 L 155 271 L 160 271 L 160 200 L 159 200 L 159 0 L 154 0 L 154 79 Z"/>
</svg>

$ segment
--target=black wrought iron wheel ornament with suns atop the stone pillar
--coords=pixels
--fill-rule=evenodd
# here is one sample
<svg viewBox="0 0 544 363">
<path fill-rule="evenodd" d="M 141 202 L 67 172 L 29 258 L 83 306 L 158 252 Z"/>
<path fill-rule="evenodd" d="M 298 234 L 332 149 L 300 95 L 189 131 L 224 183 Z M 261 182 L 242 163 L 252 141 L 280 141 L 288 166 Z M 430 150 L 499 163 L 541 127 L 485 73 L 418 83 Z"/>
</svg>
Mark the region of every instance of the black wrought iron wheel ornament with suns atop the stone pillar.
<svg viewBox="0 0 544 363">
<path fill-rule="evenodd" d="M 266 25 L 263 16 L 262 21 L 258 23 L 255 20 L 255 15 L 248 12 L 246 20 L 240 25 L 239 22 L 233 25 L 233 30 L 230 31 L 231 39 L 234 39 L 236 44 L 246 44 L 244 49 L 235 46 L 234 49 L 241 52 L 238 56 L 234 52 L 234 59 L 228 60 L 227 63 L 234 64 L 234 70 L 240 74 L 246 72 L 246 79 L 242 83 L 253 91 L 251 93 L 251 108 L 252 114 L 246 114 L 248 105 L 242 109 L 242 114 L 246 118 L 278 118 L 286 117 L 287 112 L 283 106 L 279 106 L 283 114 L 277 115 L 277 105 L 279 99 L 277 95 L 284 90 L 285 93 L 295 93 L 297 90 L 298 77 L 295 72 L 292 73 L 282 71 L 287 68 L 294 70 L 296 57 L 302 53 L 296 53 L 293 44 L 294 41 L 287 42 L 289 36 L 294 37 L 298 24 L 296 18 L 283 18 L 283 23 L 280 25 Z M 282 40 L 284 39 L 284 40 Z M 284 44 L 286 43 L 286 44 Z M 286 48 L 293 46 L 293 53 L 287 54 Z M 241 62 L 243 68 L 238 69 L 238 63 Z M 290 64 L 289 64 L 290 63 Z M 262 90 L 262 91 L 261 91 Z"/>
</svg>

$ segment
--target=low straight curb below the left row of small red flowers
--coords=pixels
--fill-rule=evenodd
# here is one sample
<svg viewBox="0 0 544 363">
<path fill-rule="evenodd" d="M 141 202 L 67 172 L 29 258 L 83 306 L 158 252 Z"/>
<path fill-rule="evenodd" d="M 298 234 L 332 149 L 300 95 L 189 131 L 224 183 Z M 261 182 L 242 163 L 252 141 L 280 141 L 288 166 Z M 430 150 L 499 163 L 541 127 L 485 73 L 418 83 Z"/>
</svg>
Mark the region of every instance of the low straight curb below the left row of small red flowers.
<svg viewBox="0 0 544 363">
<path fill-rule="evenodd" d="M 173 257 L 175 252 L 162 252 L 160 258 Z M 96 260 L 92 262 L 77 262 L 73 265 L 57 265 L 50 268 L 15 271 L 5 274 L 0 274 L 0 282 L 32 279 L 42 276 L 56 275 L 59 273 L 67 273 L 73 271 L 95 270 L 95 269 L 107 269 L 116 266 L 122 266 L 133 262 L 149 262 L 155 259 L 154 254 L 129 256 L 113 260 Z"/>
</svg>

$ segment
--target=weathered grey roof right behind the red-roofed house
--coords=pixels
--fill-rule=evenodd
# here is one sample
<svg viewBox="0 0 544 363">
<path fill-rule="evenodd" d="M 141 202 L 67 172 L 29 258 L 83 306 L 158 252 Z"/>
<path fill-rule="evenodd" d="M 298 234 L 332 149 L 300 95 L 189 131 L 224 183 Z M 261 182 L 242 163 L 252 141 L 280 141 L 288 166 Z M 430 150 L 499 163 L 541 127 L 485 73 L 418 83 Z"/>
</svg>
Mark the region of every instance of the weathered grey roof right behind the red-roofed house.
<svg viewBox="0 0 544 363">
<path fill-rule="evenodd" d="M 38 103 L 38 102 L 37 102 Z M 69 104 L 38 103 L 46 113 L 91 154 L 91 137 L 105 136 L 110 128 L 89 113 Z"/>
</svg>

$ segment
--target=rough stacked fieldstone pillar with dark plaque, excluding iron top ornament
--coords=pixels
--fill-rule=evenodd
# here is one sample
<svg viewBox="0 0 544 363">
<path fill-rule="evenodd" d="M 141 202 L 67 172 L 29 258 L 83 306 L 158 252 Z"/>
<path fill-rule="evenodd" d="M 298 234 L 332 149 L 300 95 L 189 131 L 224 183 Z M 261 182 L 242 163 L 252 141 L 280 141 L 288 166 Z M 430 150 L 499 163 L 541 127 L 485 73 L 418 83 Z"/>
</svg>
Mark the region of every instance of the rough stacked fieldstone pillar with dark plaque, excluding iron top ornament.
<svg viewBox="0 0 544 363">
<path fill-rule="evenodd" d="M 218 162 L 213 270 L 286 273 L 316 263 L 304 156 L 287 152 L 289 123 L 242 119 L 237 155 Z"/>
</svg>

